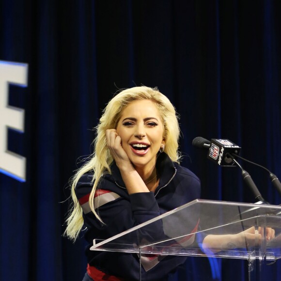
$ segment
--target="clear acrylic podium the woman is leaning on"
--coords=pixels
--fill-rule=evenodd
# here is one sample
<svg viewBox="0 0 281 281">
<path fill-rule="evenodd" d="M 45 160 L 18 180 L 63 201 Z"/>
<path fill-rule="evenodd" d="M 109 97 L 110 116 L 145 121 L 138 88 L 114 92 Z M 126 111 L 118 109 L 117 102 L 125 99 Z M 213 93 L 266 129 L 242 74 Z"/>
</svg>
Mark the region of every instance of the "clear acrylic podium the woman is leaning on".
<svg viewBox="0 0 281 281">
<path fill-rule="evenodd" d="M 274 239 L 266 240 L 266 228 L 275 230 Z M 203 243 L 207 235 L 221 243 Z M 137 253 L 140 260 L 147 254 L 247 259 L 249 280 L 261 281 L 266 265 L 281 258 L 281 206 L 194 200 L 107 240 L 95 239 L 91 250 Z"/>
</svg>

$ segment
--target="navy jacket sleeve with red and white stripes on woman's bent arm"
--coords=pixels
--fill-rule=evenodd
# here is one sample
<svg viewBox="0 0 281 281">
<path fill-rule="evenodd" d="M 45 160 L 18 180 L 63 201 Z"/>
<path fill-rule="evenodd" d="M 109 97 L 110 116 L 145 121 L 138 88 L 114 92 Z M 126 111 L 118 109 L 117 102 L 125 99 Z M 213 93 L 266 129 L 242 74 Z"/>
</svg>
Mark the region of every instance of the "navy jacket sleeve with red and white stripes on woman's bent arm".
<svg viewBox="0 0 281 281">
<path fill-rule="evenodd" d="M 83 176 L 78 182 L 76 194 L 83 209 L 84 225 L 87 227 L 85 238 L 90 243 L 93 239 L 107 239 L 160 215 L 153 192 L 128 195 L 125 190 L 117 188 L 105 180 L 97 189 L 94 207 L 102 219 L 100 222 L 90 209 L 89 195 L 92 185 L 89 178 Z M 142 241 L 161 239 L 163 235 L 162 222 L 159 220 L 131 236 L 127 235 L 127 239 L 133 239 L 134 243 L 140 244 Z"/>
</svg>

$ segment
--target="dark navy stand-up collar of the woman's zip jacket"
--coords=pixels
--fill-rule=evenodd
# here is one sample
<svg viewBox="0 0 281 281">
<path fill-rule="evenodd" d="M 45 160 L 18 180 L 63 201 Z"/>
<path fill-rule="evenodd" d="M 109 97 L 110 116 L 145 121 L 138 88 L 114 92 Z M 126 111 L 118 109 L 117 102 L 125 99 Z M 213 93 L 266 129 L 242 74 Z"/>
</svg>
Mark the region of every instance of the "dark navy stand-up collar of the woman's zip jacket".
<svg viewBox="0 0 281 281">
<path fill-rule="evenodd" d="M 115 163 L 115 161 L 110 166 L 111 175 L 107 174 L 106 178 L 109 177 L 109 180 L 114 181 L 119 187 L 125 188 L 121 173 Z M 156 171 L 160 178 L 159 185 L 157 187 L 164 187 L 169 183 L 175 173 L 175 165 L 166 153 L 159 153 L 156 161 Z"/>
</svg>

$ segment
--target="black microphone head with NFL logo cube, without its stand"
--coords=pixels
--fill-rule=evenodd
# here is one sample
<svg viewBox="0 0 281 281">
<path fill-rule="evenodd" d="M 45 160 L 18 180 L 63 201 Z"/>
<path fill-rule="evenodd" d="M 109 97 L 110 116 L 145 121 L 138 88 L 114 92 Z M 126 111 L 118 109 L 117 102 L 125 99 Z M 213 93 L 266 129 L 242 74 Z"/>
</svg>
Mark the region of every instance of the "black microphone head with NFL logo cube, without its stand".
<svg viewBox="0 0 281 281">
<path fill-rule="evenodd" d="M 239 155 L 241 147 L 226 139 L 211 139 L 208 141 L 202 137 L 197 137 L 192 141 L 192 145 L 202 149 L 209 149 L 207 158 L 222 167 L 234 167 L 235 161 L 229 154 Z"/>
</svg>

